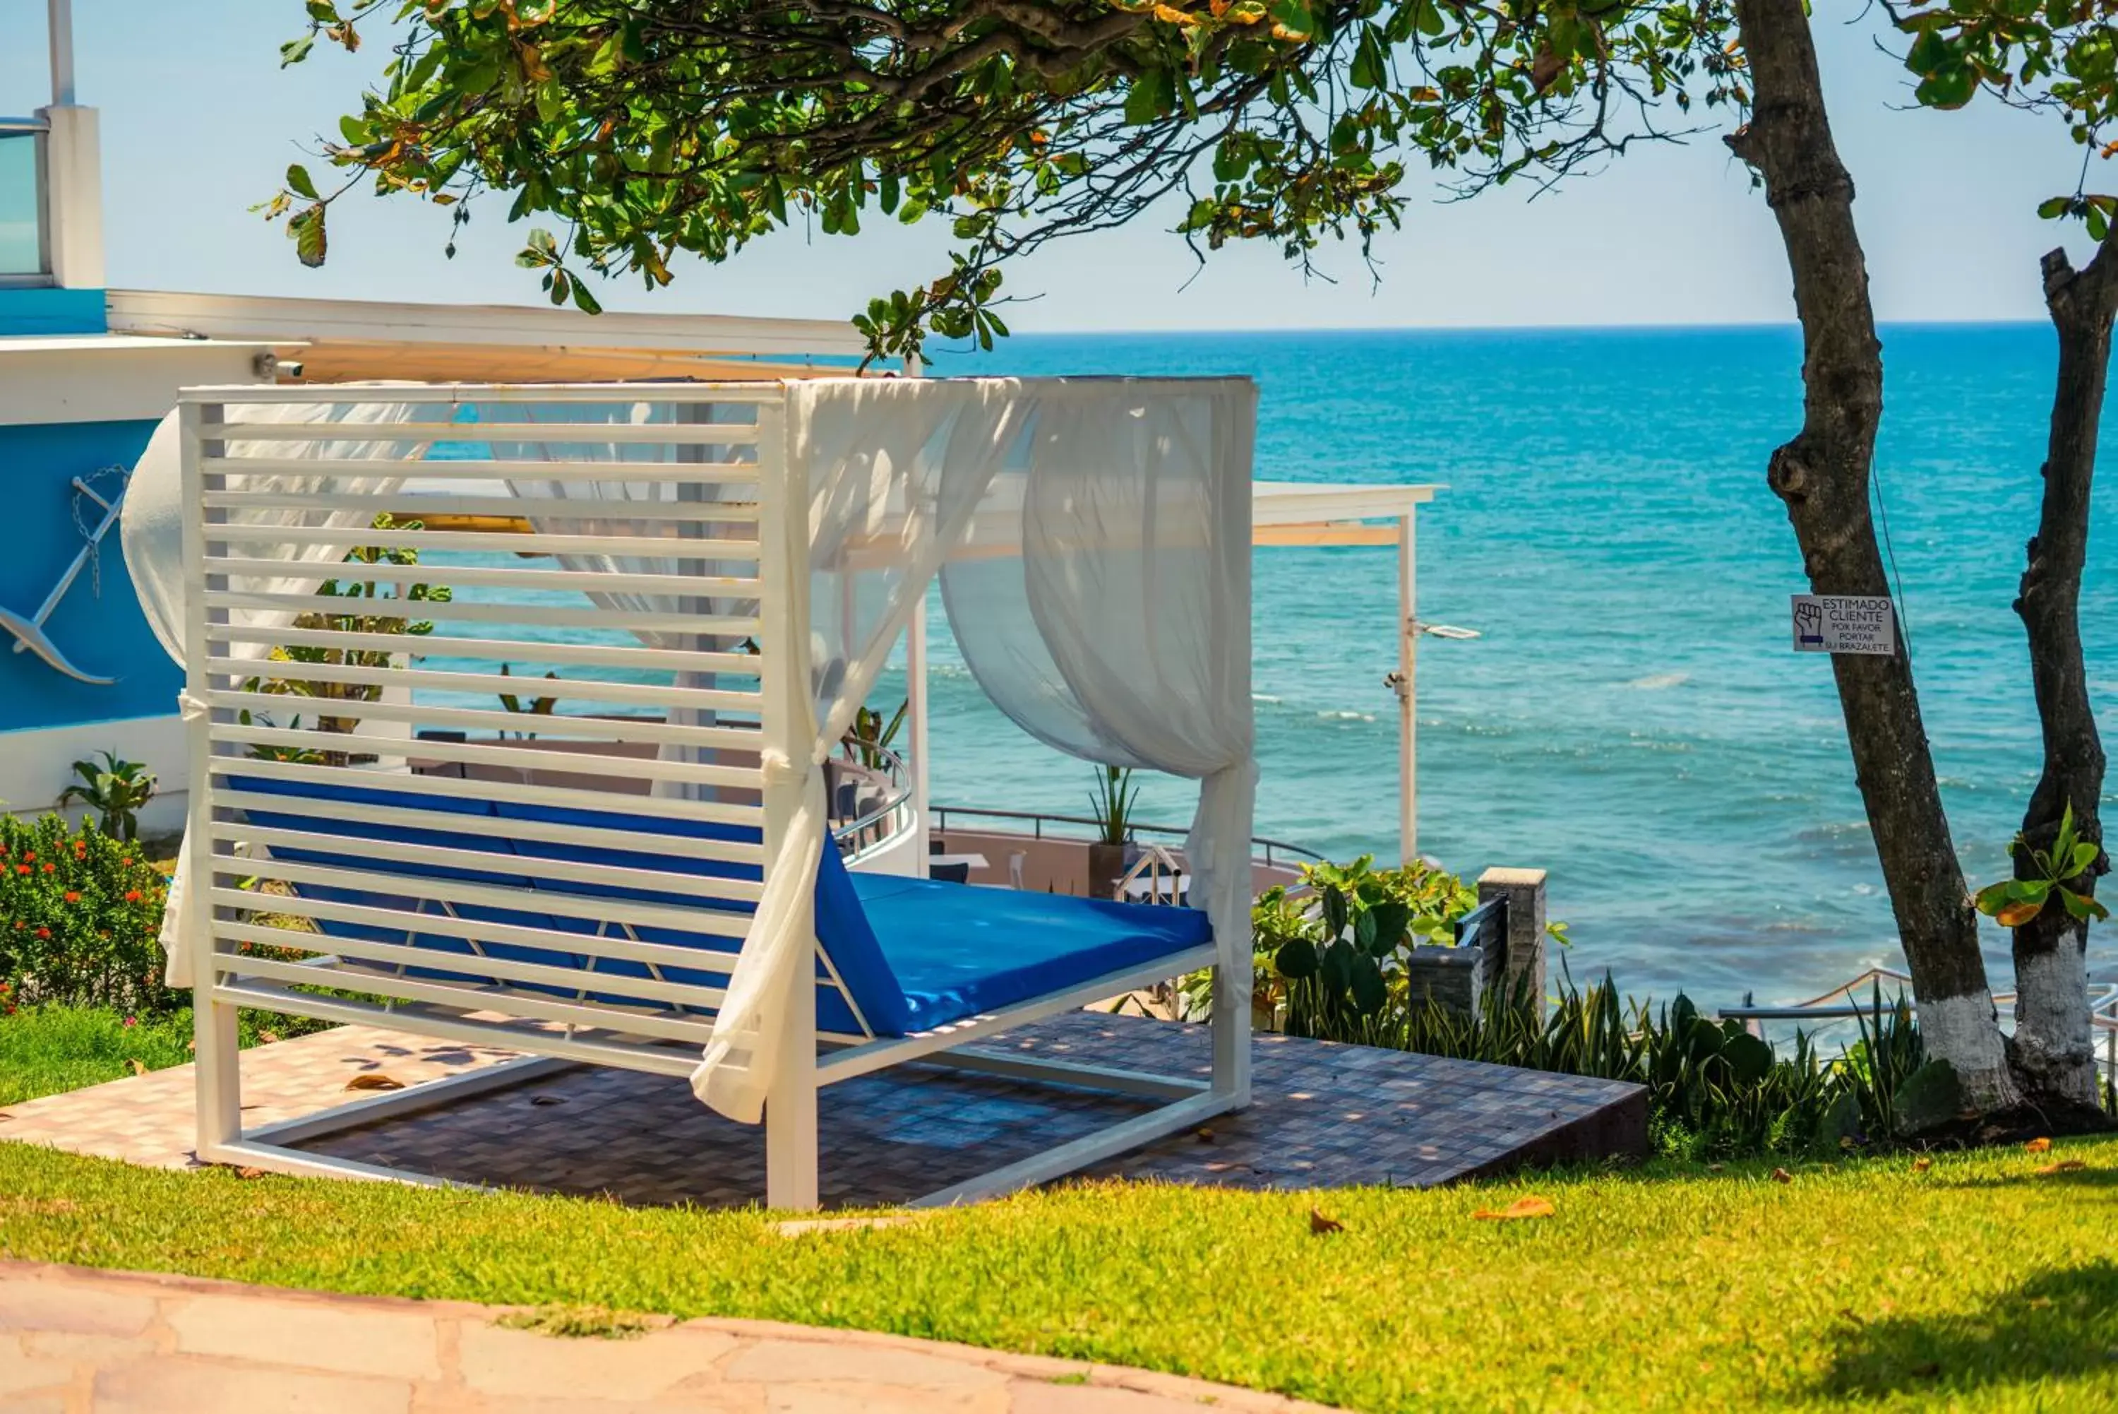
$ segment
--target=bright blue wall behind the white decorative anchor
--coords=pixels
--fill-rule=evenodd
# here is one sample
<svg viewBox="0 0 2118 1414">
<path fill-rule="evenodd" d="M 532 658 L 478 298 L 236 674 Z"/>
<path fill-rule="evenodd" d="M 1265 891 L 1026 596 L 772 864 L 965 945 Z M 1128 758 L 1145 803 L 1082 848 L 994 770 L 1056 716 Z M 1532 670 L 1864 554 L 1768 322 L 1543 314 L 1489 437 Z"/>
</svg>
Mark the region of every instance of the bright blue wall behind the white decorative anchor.
<svg viewBox="0 0 2118 1414">
<path fill-rule="evenodd" d="M 72 479 L 131 466 L 152 430 L 148 420 L 0 426 L 0 606 L 23 619 L 36 613 L 85 543 L 74 528 Z M 108 494 L 106 485 L 97 490 Z M 83 507 L 89 526 L 97 515 L 93 502 Z M 133 600 L 116 526 L 102 545 L 102 594 L 83 568 L 44 632 L 76 668 L 116 683 L 76 683 L 34 653 L 15 653 L 15 636 L 0 630 L 0 731 L 176 710 L 182 672 Z"/>
</svg>

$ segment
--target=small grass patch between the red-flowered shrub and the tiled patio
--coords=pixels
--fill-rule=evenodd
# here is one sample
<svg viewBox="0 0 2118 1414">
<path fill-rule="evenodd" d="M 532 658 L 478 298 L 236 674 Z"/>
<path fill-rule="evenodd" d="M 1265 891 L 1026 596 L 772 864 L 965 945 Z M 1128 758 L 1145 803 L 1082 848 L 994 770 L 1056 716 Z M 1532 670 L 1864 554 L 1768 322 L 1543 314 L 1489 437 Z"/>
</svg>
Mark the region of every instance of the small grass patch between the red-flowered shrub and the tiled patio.
<svg viewBox="0 0 2118 1414">
<path fill-rule="evenodd" d="M 244 1045 L 256 1045 L 267 1035 L 297 1035 L 316 1024 L 244 1011 L 237 1028 Z M 123 1079 L 136 1071 L 133 1062 L 161 1071 L 186 1060 L 189 1007 L 163 1018 L 138 1018 L 131 1026 L 102 1007 L 25 1007 L 0 1015 L 0 1107 Z"/>
</svg>

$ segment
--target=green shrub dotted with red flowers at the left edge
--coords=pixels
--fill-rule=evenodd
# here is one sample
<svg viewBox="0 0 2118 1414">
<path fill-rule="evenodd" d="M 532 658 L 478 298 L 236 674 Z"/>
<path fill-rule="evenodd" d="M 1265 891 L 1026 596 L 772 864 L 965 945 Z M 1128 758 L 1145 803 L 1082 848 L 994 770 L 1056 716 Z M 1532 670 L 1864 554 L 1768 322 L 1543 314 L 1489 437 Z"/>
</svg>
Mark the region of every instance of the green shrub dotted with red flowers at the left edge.
<svg viewBox="0 0 2118 1414">
<path fill-rule="evenodd" d="M 8 1007 L 64 1003 L 161 1015 L 167 880 L 138 844 L 55 814 L 0 816 L 0 984 Z"/>
</svg>

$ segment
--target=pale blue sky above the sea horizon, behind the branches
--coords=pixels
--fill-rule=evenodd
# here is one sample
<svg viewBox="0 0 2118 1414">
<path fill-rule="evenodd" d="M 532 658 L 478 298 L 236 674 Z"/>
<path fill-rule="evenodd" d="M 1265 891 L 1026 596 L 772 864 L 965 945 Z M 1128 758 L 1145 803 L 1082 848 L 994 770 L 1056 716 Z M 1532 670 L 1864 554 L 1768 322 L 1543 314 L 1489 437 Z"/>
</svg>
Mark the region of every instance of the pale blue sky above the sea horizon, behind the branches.
<svg viewBox="0 0 2118 1414">
<path fill-rule="evenodd" d="M 1908 110 L 1902 70 L 1874 49 L 1868 6 L 1817 0 L 1824 76 L 1885 320 L 2042 318 L 2038 254 L 2059 229 L 2035 204 L 2071 189 L 2080 155 L 2057 123 L 1974 104 Z M 0 110 L 47 100 L 42 0 L 0 0 Z M 1851 21 L 1851 23 L 1849 23 Z M 345 299 L 523 303 L 521 231 L 477 210 L 455 261 L 447 218 L 413 201 L 339 206 L 322 271 L 248 214 L 288 161 L 356 106 L 383 64 L 324 53 L 277 68 L 299 0 L 76 0 L 80 102 L 102 110 L 110 284 Z M 678 282 L 604 290 L 608 307 L 843 318 L 873 293 L 930 278 L 940 231 L 870 225 L 798 233 Z M 2071 244 L 2080 250 L 2082 237 Z M 1231 250 L 1195 276 L 1188 250 L 1137 227 L 1053 248 L 1010 276 L 1021 331 L 1406 324 L 1722 324 L 1792 318 L 1764 201 L 1709 138 L 1635 148 L 1616 167 L 1525 201 L 1502 193 L 1415 204 L 1381 242 L 1383 280 L 1351 254 L 1336 284 L 1271 250 Z"/>
</svg>

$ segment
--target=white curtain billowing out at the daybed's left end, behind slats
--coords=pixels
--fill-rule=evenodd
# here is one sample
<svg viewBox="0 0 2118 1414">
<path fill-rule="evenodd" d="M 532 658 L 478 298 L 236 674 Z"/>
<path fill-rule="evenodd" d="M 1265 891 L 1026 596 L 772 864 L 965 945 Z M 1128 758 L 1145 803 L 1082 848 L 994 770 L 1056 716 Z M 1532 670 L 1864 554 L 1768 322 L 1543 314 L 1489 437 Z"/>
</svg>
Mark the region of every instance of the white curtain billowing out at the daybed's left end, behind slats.
<svg viewBox="0 0 2118 1414">
<path fill-rule="evenodd" d="M 421 403 L 229 403 L 222 418 L 229 422 L 343 422 L 347 428 L 388 426 L 396 422 L 447 422 L 449 407 Z M 390 471 L 377 475 L 347 473 L 271 473 L 244 477 L 241 490 L 280 494 L 390 494 L 405 475 L 396 471 L 405 462 L 421 460 L 432 443 L 424 441 L 241 441 L 229 447 L 229 456 L 277 458 L 277 460 L 326 460 L 326 462 L 377 462 Z M 301 509 L 256 509 L 235 513 L 244 528 L 258 530 L 345 530 L 366 526 L 364 511 L 301 511 Z M 146 452 L 133 464 L 133 475 L 125 483 L 125 511 L 119 517 L 119 545 L 125 551 L 125 572 L 148 628 L 161 642 L 163 653 L 184 666 L 184 604 L 193 585 L 184 579 L 184 454 L 178 430 L 178 413 L 169 413 L 148 437 Z M 246 545 L 246 558 L 286 560 L 290 572 L 261 585 L 267 594 L 316 594 L 316 587 L 330 579 L 320 572 L 326 564 L 339 564 L 345 555 L 333 545 L 280 545 L 269 538 Z M 297 611 L 286 608 L 231 608 L 229 623 L 286 628 Z M 229 657 L 263 659 L 271 653 L 271 642 L 229 642 Z M 203 708 L 189 693 L 178 695 L 184 719 L 193 719 Z M 205 782 L 195 782 L 203 786 Z M 193 863 L 191 831 L 176 854 L 176 873 L 169 878 L 169 897 L 161 914 L 161 948 L 167 958 L 163 977 L 174 988 L 189 988 L 193 979 L 189 937 L 203 937 L 203 918 L 186 926 L 186 880 Z"/>
</svg>

